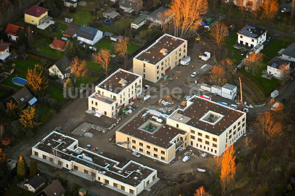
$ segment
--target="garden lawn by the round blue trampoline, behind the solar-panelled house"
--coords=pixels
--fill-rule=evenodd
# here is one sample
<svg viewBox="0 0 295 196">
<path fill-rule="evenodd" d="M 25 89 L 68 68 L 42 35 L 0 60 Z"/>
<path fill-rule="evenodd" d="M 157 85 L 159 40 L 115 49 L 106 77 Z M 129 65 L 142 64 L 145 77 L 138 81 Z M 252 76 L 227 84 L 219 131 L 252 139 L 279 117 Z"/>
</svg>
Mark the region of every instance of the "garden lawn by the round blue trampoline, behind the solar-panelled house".
<svg viewBox="0 0 295 196">
<path fill-rule="evenodd" d="M 111 33 L 117 33 L 118 31 L 124 31 L 126 26 L 130 27 L 130 22 L 131 22 L 130 18 L 126 18 L 126 19 L 119 18 L 115 21 L 112 21 L 111 24 L 105 24 L 104 20 L 100 20 L 99 23 L 101 24 L 101 26 L 97 27 L 97 29 L 103 32 L 108 31 Z"/>
</svg>

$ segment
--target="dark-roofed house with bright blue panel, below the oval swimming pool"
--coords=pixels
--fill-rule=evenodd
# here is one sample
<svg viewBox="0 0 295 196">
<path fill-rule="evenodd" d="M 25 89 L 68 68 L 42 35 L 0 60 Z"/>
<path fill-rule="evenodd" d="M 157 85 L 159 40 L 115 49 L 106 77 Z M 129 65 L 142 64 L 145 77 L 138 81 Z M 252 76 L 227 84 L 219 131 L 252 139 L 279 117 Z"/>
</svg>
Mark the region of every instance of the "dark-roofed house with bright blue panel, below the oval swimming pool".
<svg viewBox="0 0 295 196">
<path fill-rule="evenodd" d="M 12 101 L 14 104 L 18 104 L 23 108 L 28 104 L 32 106 L 37 102 L 37 98 L 34 97 L 27 87 L 20 89 L 17 93 L 15 93 L 11 98 L 6 100 L 6 104 L 9 104 Z"/>
</svg>

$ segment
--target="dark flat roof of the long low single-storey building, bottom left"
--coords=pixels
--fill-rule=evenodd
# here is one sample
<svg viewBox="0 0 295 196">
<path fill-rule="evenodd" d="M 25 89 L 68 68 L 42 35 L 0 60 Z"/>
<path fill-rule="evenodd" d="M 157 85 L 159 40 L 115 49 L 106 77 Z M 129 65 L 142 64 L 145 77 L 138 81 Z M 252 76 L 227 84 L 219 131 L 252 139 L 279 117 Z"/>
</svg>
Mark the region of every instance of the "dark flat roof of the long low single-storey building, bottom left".
<svg viewBox="0 0 295 196">
<path fill-rule="evenodd" d="M 100 175 L 111 177 L 133 187 L 137 187 L 142 180 L 156 171 L 134 161 L 128 162 L 122 168 L 117 167 L 119 162 L 112 159 L 81 147 L 77 147 L 74 150 L 71 149 L 71 145 L 77 141 L 77 139 L 53 131 L 33 148 L 41 150 L 50 156 L 53 156 L 52 148 L 54 148 L 58 151 L 60 159 L 76 162 L 85 167 L 89 167 L 89 171 L 91 171 L 91 169 L 96 170 L 96 173 Z"/>
</svg>

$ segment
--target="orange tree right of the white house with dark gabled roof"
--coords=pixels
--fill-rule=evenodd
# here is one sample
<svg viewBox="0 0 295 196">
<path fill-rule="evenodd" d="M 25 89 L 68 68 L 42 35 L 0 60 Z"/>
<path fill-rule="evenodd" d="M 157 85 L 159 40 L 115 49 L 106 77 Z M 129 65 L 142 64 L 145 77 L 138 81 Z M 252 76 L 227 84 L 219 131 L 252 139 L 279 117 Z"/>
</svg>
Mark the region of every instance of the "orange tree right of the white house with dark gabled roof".
<svg viewBox="0 0 295 196">
<path fill-rule="evenodd" d="M 77 81 L 78 77 L 82 77 L 87 73 L 86 61 L 81 61 L 78 57 L 74 57 L 71 60 L 71 65 L 68 67 L 71 71 L 71 76 L 74 79 L 74 82 Z"/>
</svg>

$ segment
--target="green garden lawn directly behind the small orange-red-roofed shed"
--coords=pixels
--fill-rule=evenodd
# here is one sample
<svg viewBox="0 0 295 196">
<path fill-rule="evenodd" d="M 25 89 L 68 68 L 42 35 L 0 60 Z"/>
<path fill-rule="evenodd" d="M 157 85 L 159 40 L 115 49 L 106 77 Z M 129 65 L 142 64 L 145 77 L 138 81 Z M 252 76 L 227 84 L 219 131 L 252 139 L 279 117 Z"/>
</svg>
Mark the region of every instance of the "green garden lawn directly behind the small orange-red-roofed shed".
<svg viewBox="0 0 295 196">
<path fill-rule="evenodd" d="M 38 44 L 37 42 L 42 42 L 47 44 L 47 46 L 42 46 L 40 44 Z M 49 40 L 46 38 L 42 38 L 42 39 L 35 39 L 34 41 L 31 42 L 31 46 L 36 47 L 38 49 L 40 49 L 40 53 L 46 56 L 50 56 L 56 59 L 61 59 L 64 56 L 64 52 L 61 51 L 57 51 L 55 49 L 52 49 L 49 47 L 50 44 L 52 44 L 53 40 Z"/>
</svg>

